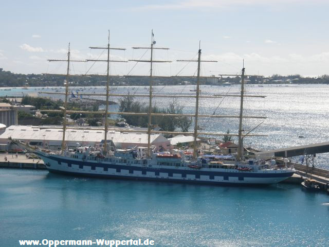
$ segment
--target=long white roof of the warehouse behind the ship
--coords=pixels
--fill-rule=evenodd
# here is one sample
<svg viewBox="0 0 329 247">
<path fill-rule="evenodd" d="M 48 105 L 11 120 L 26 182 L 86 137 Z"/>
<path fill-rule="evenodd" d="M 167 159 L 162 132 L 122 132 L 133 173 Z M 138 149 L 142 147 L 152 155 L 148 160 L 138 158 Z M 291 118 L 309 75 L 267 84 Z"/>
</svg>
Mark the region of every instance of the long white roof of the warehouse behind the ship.
<svg viewBox="0 0 329 247">
<path fill-rule="evenodd" d="M 83 137 L 82 137 L 83 136 Z M 7 139 L 20 140 L 58 140 L 62 141 L 63 130 L 61 128 L 45 127 L 45 126 L 20 126 L 12 125 L 0 135 L 0 140 Z M 113 137 L 113 138 L 112 138 Z M 68 129 L 65 132 L 65 139 L 72 142 L 95 142 L 100 143 L 104 139 L 104 131 L 102 130 L 83 130 Z M 118 131 L 108 131 L 107 139 L 116 143 L 134 143 L 148 144 L 148 134 Z M 151 134 L 151 143 L 168 142 L 168 139 L 159 134 Z"/>
</svg>

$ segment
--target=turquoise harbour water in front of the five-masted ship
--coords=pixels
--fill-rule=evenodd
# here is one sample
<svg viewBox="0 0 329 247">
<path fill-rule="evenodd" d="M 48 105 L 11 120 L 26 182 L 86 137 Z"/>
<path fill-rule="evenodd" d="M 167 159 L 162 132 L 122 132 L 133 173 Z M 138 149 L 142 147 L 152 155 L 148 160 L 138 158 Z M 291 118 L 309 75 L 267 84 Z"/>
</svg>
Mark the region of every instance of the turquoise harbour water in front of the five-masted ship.
<svg viewBox="0 0 329 247">
<path fill-rule="evenodd" d="M 329 196 L 289 184 L 219 187 L 0 169 L 0 246 L 99 238 L 149 238 L 155 246 L 328 246 Z"/>
</svg>

